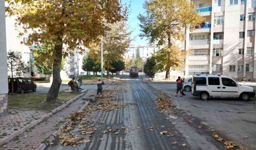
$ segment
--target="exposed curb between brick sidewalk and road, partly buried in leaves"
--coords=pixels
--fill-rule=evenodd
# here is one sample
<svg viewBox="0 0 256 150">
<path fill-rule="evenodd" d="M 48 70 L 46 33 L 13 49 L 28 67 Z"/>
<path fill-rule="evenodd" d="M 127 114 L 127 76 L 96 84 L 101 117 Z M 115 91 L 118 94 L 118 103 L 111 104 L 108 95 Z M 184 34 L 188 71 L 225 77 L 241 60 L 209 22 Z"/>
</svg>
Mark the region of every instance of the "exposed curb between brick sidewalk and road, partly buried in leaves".
<svg viewBox="0 0 256 150">
<path fill-rule="evenodd" d="M 84 104 L 84 106 L 82 106 L 78 112 L 81 112 L 84 110 L 84 108 L 89 104 L 90 101 L 87 101 L 86 104 Z M 68 121 L 71 121 L 70 119 L 67 120 Z M 57 134 L 58 132 L 61 132 L 66 126 L 67 126 L 67 122 L 65 122 L 64 124 L 62 124 L 62 126 L 60 126 L 60 128 L 58 128 L 58 130 L 54 131 L 50 136 L 49 138 L 47 139 L 47 141 L 49 142 L 46 142 L 46 143 L 42 143 L 40 144 L 40 146 L 36 149 L 36 150 L 44 150 L 49 144 L 50 142 L 52 142 L 55 138 L 57 138 Z"/>
</svg>

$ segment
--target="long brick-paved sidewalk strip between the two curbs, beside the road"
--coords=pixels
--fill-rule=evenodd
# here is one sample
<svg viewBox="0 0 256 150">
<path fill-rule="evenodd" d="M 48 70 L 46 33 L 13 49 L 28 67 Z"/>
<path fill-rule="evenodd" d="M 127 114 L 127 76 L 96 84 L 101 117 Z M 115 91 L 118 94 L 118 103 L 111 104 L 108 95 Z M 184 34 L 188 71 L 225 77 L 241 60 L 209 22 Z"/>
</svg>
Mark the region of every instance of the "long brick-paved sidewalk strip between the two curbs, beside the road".
<svg viewBox="0 0 256 150">
<path fill-rule="evenodd" d="M 41 143 L 46 142 L 47 138 L 69 119 L 70 114 L 79 110 L 86 103 L 82 98 L 90 95 L 95 95 L 95 90 L 88 90 L 84 96 L 74 100 L 68 107 L 45 118 L 43 122 L 0 147 L 0 150 L 34 150 L 38 148 Z"/>
</svg>

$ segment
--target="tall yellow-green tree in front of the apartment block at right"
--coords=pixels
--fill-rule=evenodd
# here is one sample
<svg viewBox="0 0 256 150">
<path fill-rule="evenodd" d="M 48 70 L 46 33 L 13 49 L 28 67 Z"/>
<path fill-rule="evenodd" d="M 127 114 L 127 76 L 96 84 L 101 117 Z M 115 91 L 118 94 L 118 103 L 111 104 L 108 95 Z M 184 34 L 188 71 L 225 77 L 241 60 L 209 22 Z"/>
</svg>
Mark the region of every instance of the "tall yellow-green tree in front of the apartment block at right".
<svg viewBox="0 0 256 150">
<path fill-rule="evenodd" d="M 160 50 L 156 55 L 163 56 L 162 54 L 166 54 L 162 57 L 162 61 L 158 63 L 162 68 L 160 66 L 158 68 L 166 71 L 165 78 L 168 79 L 170 78 L 170 69 L 177 68 L 176 64 L 172 64 L 173 60 L 180 57 L 180 55 L 171 53 L 174 49 L 178 50 L 176 46 L 173 46 L 174 40 L 183 41 L 185 29 L 189 28 L 190 31 L 193 31 L 195 26 L 204 18 L 196 12 L 193 2 L 188 0 L 150 0 L 145 2 L 144 8 L 146 9 L 146 15 L 140 14 L 138 16 L 142 31 L 140 37 L 146 37 L 150 43 L 157 42 Z M 166 41 L 168 41 L 167 44 Z M 186 55 L 182 52 L 178 54 Z M 160 56 L 157 60 L 161 60 Z"/>
</svg>

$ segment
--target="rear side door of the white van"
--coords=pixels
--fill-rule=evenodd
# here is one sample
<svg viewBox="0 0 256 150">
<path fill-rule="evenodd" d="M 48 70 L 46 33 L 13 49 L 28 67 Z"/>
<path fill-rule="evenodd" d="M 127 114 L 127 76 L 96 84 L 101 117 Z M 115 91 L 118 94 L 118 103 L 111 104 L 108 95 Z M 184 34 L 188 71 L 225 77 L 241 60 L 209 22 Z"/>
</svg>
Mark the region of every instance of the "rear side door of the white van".
<svg viewBox="0 0 256 150">
<path fill-rule="evenodd" d="M 219 77 L 208 77 L 208 92 L 210 96 L 222 96 L 222 86 Z"/>
</svg>

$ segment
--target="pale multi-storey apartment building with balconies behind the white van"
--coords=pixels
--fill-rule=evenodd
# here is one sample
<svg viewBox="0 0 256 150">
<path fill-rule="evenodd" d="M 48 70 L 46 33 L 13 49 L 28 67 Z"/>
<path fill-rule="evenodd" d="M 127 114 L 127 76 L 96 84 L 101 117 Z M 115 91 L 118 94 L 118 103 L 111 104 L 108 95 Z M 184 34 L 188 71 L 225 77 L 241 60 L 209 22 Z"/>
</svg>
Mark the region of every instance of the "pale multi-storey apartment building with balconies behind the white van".
<svg viewBox="0 0 256 150">
<path fill-rule="evenodd" d="M 184 75 L 220 74 L 236 80 L 256 80 L 256 0 L 193 0 L 205 20 L 186 30 Z"/>
</svg>

